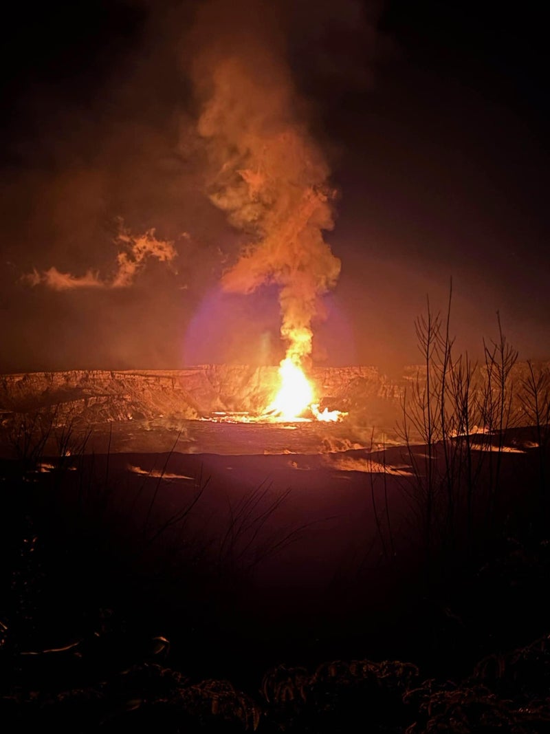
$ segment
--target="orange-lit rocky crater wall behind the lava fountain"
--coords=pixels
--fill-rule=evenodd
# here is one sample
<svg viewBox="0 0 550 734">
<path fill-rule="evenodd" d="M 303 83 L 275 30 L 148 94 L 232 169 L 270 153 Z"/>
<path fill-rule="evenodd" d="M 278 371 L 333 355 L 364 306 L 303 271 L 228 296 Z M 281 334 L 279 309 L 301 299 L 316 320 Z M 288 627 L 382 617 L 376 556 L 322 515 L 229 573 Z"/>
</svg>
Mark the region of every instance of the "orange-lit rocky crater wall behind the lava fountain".
<svg viewBox="0 0 550 734">
<path fill-rule="evenodd" d="M 320 403 L 340 410 L 369 410 L 365 401 L 395 407 L 403 385 L 373 367 L 312 371 Z M 173 371 L 66 371 L 10 374 L 0 378 L 0 410 L 23 413 L 56 407 L 60 416 L 89 424 L 200 418 L 216 411 L 260 413 L 277 384 L 276 367 L 204 365 Z"/>
</svg>

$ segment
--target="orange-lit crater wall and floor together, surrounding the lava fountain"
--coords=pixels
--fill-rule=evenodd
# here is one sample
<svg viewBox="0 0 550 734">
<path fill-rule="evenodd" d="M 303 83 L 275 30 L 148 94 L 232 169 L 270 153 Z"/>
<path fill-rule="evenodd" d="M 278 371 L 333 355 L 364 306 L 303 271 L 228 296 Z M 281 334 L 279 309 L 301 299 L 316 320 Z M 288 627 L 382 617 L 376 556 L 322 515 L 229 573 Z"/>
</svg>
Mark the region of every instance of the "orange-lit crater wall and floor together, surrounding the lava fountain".
<svg viewBox="0 0 550 734">
<path fill-rule="evenodd" d="M 548 370 L 544 365 L 544 374 Z M 518 397 L 528 376 L 526 363 L 517 363 L 510 375 L 510 417 L 517 426 L 529 422 Z M 403 443 L 403 404 L 414 401 L 425 379 L 421 366 L 403 368 L 400 377 L 393 378 L 369 366 L 316 368 L 309 377 L 321 410 L 345 412 L 342 423 L 313 421 L 294 432 L 296 425 L 269 426 L 268 432 L 230 423 L 222 428 L 220 423 L 227 423 L 232 413 L 262 413 L 276 389 L 276 367 L 202 365 L 1 375 L 0 456 L 10 456 L 21 436 L 37 429 L 70 429 L 72 437 L 81 439 L 91 432 L 87 446 L 94 451 L 166 451 L 175 446 L 190 453 L 323 453 L 395 445 Z M 483 377 L 483 367 L 476 368 L 472 392 Z M 411 440 L 420 443 L 423 437 L 414 421 L 409 421 L 409 429 Z"/>
</svg>

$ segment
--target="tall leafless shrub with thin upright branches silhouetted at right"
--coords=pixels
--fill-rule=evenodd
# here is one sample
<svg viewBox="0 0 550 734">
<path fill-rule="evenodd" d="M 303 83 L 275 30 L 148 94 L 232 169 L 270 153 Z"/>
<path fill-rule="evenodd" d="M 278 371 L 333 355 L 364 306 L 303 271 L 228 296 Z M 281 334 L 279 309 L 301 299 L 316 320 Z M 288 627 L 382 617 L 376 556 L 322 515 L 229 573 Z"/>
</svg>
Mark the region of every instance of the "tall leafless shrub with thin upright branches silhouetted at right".
<svg viewBox="0 0 550 734">
<path fill-rule="evenodd" d="M 455 355 L 451 303 L 452 283 L 444 316 L 434 313 L 428 300 L 426 314 L 415 321 L 422 369 L 406 390 L 399 426 L 412 467 L 403 490 L 422 538 L 428 574 L 435 562 L 444 563 L 441 551 L 452 553 L 461 538 L 463 548 L 473 549 L 481 506 L 488 531 L 494 530 L 505 440 L 518 421 L 518 400 L 539 426 L 538 443 L 550 437 L 543 427 L 550 422 L 548 374 L 535 373 L 531 365 L 518 390 L 513 381 L 518 352 L 505 337 L 499 313 L 498 338 L 483 341 L 483 366 L 472 363 L 467 352 Z M 540 471 L 543 484 L 543 465 Z"/>
</svg>

